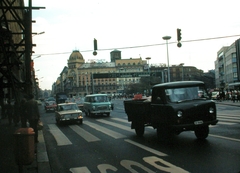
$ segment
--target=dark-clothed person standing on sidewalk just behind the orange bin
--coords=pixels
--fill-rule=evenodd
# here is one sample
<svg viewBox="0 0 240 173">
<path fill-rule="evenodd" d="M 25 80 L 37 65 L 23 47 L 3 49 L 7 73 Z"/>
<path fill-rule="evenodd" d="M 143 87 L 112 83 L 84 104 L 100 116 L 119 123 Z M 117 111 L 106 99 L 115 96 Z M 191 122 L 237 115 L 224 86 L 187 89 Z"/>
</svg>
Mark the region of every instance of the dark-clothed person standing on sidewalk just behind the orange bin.
<svg viewBox="0 0 240 173">
<path fill-rule="evenodd" d="M 38 143 L 38 121 L 40 119 L 39 109 L 38 109 L 38 103 L 34 99 L 33 94 L 29 94 L 29 100 L 25 103 L 26 108 L 26 117 L 29 122 L 29 126 L 33 128 L 35 135 L 34 135 L 34 141 L 35 143 Z"/>
</svg>

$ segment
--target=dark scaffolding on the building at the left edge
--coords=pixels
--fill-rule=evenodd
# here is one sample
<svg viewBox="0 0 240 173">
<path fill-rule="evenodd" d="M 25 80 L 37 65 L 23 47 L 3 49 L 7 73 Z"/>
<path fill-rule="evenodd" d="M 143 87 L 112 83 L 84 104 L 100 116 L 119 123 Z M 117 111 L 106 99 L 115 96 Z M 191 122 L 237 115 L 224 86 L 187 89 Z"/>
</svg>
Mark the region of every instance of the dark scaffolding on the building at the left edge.
<svg viewBox="0 0 240 173">
<path fill-rule="evenodd" d="M 32 10 L 45 7 L 28 6 L 24 0 L 0 1 L 0 92 L 1 99 L 20 101 L 35 87 L 33 76 Z M 1 101 L 2 102 L 2 101 Z"/>
</svg>

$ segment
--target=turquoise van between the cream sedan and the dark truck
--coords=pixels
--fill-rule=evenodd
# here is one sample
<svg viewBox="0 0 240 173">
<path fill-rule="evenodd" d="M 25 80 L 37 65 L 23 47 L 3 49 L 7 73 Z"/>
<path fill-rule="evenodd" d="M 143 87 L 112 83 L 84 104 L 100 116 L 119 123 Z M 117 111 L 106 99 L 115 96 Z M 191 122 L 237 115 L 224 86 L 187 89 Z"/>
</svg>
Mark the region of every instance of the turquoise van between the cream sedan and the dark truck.
<svg viewBox="0 0 240 173">
<path fill-rule="evenodd" d="M 91 94 L 86 95 L 83 103 L 83 109 L 86 116 L 104 114 L 110 116 L 113 105 L 109 101 L 107 94 Z"/>
</svg>

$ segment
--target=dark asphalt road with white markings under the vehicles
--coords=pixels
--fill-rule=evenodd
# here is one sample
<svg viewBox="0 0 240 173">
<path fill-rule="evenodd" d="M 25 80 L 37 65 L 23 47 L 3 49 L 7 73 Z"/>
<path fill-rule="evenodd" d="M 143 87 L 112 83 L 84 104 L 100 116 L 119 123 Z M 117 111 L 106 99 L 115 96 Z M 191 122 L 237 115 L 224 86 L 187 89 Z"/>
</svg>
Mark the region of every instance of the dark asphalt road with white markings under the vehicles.
<svg viewBox="0 0 240 173">
<path fill-rule="evenodd" d="M 82 125 L 58 126 L 54 113 L 42 110 L 53 173 L 240 171 L 240 107 L 217 104 L 219 123 L 210 127 L 204 141 L 183 132 L 160 142 L 151 127 L 138 138 L 127 121 L 123 100 L 113 102 L 110 117 L 84 116 Z"/>
</svg>

